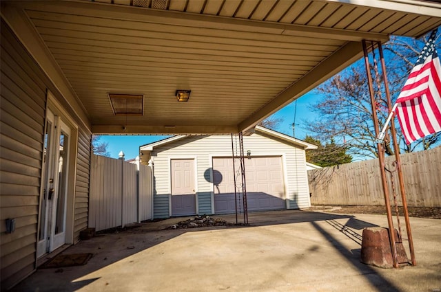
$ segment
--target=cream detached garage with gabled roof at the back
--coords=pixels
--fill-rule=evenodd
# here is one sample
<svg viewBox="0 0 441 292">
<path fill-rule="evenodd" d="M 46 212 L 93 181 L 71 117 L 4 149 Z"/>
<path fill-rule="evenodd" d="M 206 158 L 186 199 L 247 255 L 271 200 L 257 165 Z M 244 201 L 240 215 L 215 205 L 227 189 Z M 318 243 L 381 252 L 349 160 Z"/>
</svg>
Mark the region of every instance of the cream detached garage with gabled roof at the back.
<svg viewBox="0 0 441 292">
<path fill-rule="evenodd" d="M 249 211 L 310 206 L 305 150 L 316 146 L 262 126 L 243 145 Z M 153 164 L 155 218 L 242 209 L 231 136 L 174 136 L 141 146 L 140 154 L 143 164 Z"/>
</svg>

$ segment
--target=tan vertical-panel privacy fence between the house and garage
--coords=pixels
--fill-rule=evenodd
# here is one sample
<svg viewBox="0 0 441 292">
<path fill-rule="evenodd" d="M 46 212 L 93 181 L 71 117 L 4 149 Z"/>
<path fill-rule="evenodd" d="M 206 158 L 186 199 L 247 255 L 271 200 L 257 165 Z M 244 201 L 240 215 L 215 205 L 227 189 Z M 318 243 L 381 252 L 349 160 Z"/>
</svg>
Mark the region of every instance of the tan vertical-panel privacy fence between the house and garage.
<svg viewBox="0 0 441 292">
<path fill-rule="evenodd" d="M 152 168 L 92 155 L 89 206 L 96 231 L 152 219 Z"/>
</svg>

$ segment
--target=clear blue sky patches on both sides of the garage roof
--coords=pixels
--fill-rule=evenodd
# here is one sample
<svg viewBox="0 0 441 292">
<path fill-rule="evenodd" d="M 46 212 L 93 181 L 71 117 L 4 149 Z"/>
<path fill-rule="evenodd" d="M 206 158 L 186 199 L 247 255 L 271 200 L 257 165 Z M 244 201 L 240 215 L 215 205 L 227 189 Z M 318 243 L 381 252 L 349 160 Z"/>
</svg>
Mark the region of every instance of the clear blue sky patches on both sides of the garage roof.
<svg viewBox="0 0 441 292">
<path fill-rule="evenodd" d="M 318 100 L 318 96 L 314 95 L 314 91 L 309 91 L 305 96 L 297 100 L 297 114 L 296 114 L 296 138 L 303 139 L 307 134 L 302 124 L 305 120 L 313 120 L 314 113 L 309 110 L 309 104 Z M 291 102 L 277 113 L 275 117 L 282 118 L 276 131 L 287 135 L 292 135 L 291 124 L 294 122 L 294 108 L 295 102 Z M 100 142 L 108 143 L 107 150 L 110 157 L 118 158 L 119 152 L 122 150 L 125 154 L 125 159 L 132 159 L 139 155 L 139 146 L 156 142 L 168 136 L 155 135 L 103 135 Z"/>
</svg>

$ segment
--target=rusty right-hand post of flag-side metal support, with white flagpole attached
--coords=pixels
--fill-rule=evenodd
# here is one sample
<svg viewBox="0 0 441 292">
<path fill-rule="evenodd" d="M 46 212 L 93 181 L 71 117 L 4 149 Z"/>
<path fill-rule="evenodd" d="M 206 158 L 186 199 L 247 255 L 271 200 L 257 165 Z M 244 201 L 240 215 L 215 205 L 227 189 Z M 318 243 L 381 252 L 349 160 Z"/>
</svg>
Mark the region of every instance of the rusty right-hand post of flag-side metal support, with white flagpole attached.
<svg viewBox="0 0 441 292">
<path fill-rule="evenodd" d="M 393 107 L 391 107 L 391 95 L 389 93 L 389 83 L 387 81 L 386 65 L 384 63 L 384 56 L 383 56 L 381 43 L 378 43 L 378 52 L 380 52 L 382 74 L 383 74 L 383 78 L 384 78 L 384 89 L 386 91 L 386 98 L 387 98 L 387 107 L 388 107 L 389 111 L 391 112 L 389 114 L 389 117 L 387 118 L 386 124 L 384 124 L 382 131 L 385 132 L 387 125 L 389 124 L 389 122 L 391 122 L 393 150 L 395 152 L 395 157 L 396 157 L 396 161 L 397 161 L 398 181 L 400 183 L 400 193 L 401 193 L 402 209 L 403 209 L 403 213 L 404 213 L 404 221 L 406 222 L 407 240 L 409 241 L 409 251 L 411 252 L 412 265 L 416 266 L 415 251 L 413 249 L 411 223 L 409 220 L 409 211 L 407 210 L 406 192 L 404 191 L 404 178 L 402 175 L 402 168 L 401 168 L 400 147 L 398 146 L 397 138 L 396 138 L 397 133 L 396 133 L 396 128 L 395 128 L 395 121 L 393 119 L 391 119 L 391 117 L 393 116 L 393 112 L 397 108 L 398 103 L 393 104 Z M 384 132 L 383 132 L 383 137 L 384 137 Z"/>
</svg>

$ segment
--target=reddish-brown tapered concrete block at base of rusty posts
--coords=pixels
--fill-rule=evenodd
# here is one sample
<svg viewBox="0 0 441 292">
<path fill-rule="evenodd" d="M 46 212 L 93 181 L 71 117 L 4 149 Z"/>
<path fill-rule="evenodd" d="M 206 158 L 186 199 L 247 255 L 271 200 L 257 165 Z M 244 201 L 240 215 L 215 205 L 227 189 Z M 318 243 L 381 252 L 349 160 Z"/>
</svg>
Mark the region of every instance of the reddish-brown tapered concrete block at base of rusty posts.
<svg viewBox="0 0 441 292">
<path fill-rule="evenodd" d="M 389 229 L 367 227 L 363 229 L 361 244 L 361 262 L 367 265 L 390 269 L 393 267 L 392 249 L 389 241 Z M 396 241 L 398 231 L 394 229 Z M 402 243 L 396 243 L 398 263 L 407 263 L 406 251 Z"/>
</svg>

